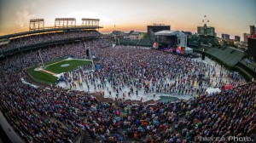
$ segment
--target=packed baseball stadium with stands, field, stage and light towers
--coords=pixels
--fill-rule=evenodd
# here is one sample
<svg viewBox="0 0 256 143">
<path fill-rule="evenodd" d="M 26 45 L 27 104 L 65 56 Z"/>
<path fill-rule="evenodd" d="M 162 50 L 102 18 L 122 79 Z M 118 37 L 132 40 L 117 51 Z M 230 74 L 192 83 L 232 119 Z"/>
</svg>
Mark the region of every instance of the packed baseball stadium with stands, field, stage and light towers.
<svg viewBox="0 0 256 143">
<path fill-rule="evenodd" d="M 100 32 L 98 18 L 78 21 L 30 19 L 0 36 L 0 142 L 256 139 L 253 33 L 243 50 L 207 22 L 201 34 L 154 23 L 128 39 Z"/>
</svg>

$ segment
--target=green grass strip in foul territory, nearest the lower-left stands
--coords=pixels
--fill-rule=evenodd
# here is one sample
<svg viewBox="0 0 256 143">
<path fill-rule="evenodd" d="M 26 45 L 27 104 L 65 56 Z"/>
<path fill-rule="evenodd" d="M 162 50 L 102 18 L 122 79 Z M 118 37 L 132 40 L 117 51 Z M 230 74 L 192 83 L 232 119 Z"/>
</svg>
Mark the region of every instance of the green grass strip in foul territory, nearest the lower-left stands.
<svg viewBox="0 0 256 143">
<path fill-rule="evenodd" d="M 35 71 L 36 66 L 26 69 L 26 72 L 32 77 L 35 82 L 45 83 L 45 84 L 55 84 L 58 77 L 52 76 L 49 73 Z"/>
</svg>

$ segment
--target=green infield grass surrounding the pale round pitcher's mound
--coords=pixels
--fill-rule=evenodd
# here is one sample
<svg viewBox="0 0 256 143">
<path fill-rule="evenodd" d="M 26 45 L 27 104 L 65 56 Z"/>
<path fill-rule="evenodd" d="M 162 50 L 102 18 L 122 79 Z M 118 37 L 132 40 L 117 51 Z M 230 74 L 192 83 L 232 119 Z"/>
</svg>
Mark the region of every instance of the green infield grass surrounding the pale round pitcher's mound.
<svg viewBox="0 0 256 143">
<path fill-rule="evenodd" d="M 63 60 L 51 66 L 46 66 L 45 70 L 54 73 L 69 72 L 78 66 L 84 66 L 89 64 L 89 60 Z M 61 67 L 63 64 L 69 64 L 69 66 Z"/>
</svg>

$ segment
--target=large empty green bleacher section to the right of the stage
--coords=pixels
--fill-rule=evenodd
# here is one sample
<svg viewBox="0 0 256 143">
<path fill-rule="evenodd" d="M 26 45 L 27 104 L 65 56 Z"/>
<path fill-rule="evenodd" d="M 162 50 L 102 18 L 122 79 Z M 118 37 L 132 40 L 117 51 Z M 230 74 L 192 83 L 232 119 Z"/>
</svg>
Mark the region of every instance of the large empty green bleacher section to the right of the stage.
<svg viewBox="0 0 256 143">
<path fill-rule="evenodd" d="M 233 49 L 230 47 L 226 48 L 209 48 L 205 49 L 207 54 L 210 54 L 223 61 L 228 66 L 235 66 L 241 58 L 245 55 L 243 51 L 238 49 Z"/>
</svg>

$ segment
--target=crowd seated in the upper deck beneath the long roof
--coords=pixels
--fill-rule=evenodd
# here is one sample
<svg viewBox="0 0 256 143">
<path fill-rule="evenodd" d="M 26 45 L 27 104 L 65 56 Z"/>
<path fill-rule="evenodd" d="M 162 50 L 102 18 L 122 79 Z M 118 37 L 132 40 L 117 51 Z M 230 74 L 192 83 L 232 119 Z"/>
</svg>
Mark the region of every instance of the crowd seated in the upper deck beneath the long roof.
<svg viewBox="0 0 256 143">
<path fill-rule="evenodd" d="M 61 31 L 44 34 L 36 34 L 27 37 L 17 37 L 11 39 L 8 44 L 0 45 L 0 53 L 9 49 L 20 49 L 23 46 L 29 46 L 38 43 L 47 43 L 58 40 L 65 40 L 76 37 L 100 36 L 98 31 Z"/>
</svg>

